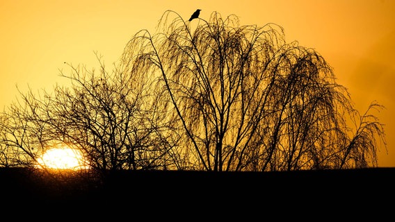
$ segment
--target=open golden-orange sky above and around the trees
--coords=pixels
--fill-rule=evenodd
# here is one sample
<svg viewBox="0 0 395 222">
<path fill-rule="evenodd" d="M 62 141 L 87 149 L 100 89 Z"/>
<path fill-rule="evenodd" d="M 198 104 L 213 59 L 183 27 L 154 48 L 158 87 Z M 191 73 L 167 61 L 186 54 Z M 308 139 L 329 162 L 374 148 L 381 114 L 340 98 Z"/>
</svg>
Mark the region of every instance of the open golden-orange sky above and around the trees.
<svg viewBox="0 0 395 222">
<path fill-rule="evenodd" d="M 163 12 L 187 20 L 198 8 L 205 20 L 219 12 L 236 15 L 241 25 L 275 23 L 287 42 L 319 52 L 357 110 L 364 113 L 372 101 L 385 106 L 373 112 L 387 135 L 378 167 L 395 167 L 394 0 L 0 0 L 0 108 L 15 101 L 18 90 L 66 84 L 59 76 L 68 70 L 64 62 L 98 67 L 97 52 L 110 67 L 134 34 L 156 31 Z"/>
</svg>

